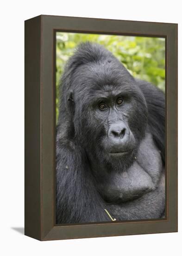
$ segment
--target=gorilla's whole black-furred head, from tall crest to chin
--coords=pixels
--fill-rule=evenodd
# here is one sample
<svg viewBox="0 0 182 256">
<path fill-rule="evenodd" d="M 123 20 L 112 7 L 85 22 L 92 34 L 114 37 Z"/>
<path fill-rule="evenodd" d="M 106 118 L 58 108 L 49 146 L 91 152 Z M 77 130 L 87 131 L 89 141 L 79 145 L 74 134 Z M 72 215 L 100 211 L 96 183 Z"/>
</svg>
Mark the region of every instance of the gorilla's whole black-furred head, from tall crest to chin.
<svg viewBox="0 0 182 256">
<path fill-rule="evenodd" d="M 113 54 L 81 44 L 63 74 L 65 108 L 72 135 L 89 157 L 132 163 L 147 125 L 144 95 Z"/>
</svg>

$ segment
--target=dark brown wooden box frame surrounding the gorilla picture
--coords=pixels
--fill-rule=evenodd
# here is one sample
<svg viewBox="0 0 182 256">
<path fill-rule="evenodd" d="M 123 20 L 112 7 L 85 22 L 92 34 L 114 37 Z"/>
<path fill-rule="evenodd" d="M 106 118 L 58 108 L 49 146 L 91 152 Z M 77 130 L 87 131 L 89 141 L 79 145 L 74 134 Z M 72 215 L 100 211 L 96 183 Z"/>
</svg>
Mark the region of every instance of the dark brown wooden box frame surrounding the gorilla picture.
<svg viewBox="0 0 182 256">
<path fill-rule="evenodd" d="M 164 37 L 166 218 L 55 224 L 56 31 Z M 25 21 L 25 235 L 38 240 L 177 232 L 177 24 L 40 15 Z"/>
</svg>

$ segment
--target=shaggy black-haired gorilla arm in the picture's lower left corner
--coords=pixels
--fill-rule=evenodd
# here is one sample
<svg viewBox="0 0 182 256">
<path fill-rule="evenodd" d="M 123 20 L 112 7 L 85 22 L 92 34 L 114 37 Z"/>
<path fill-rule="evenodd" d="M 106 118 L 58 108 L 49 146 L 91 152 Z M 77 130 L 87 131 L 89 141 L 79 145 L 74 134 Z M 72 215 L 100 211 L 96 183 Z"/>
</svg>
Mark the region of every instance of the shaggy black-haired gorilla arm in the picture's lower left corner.
<svg viewBox="0 0 182 256">
<path fill-rule="evenodd" d="M 56 223 L 110 221 L 82 148 L 57 141 Z"/>
</svg>

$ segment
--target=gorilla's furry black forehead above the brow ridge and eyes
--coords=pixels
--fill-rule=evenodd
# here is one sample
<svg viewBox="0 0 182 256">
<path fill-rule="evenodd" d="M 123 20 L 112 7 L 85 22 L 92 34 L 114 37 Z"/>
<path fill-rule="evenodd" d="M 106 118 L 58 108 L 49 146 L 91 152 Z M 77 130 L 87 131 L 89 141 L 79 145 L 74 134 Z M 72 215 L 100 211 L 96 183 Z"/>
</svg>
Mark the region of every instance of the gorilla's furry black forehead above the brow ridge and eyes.
<svg viewBox="0 0 182 256">
<path fill-rule="evenodd" d="M 134 80 L 118 62 L 97 62 L 80 66 L 75 72 L 73 86 L 82 94 L 117 94 L 130 91 Z"/>
</svg>

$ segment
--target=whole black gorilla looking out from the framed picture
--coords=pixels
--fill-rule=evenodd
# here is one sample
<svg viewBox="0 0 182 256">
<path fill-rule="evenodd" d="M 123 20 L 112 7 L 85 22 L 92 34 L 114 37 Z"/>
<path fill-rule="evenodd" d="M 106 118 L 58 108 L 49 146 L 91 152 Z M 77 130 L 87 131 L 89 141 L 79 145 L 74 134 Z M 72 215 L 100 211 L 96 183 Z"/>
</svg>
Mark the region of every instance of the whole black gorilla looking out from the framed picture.
<svg viewBox="0 0 182 256">
<path fill-rule="evenodd" d="M 56 224 L 165 216 L 165 98 L 103 46 L 65 66 L 56 126 Z"/>
</svg>

